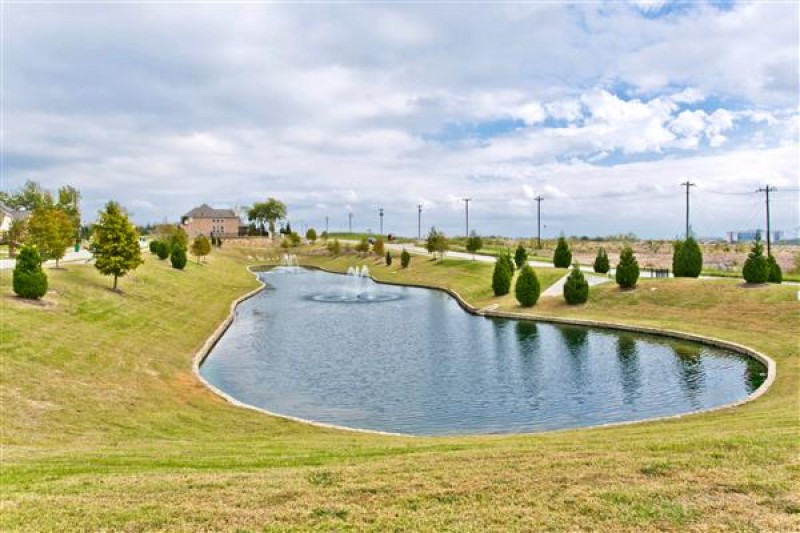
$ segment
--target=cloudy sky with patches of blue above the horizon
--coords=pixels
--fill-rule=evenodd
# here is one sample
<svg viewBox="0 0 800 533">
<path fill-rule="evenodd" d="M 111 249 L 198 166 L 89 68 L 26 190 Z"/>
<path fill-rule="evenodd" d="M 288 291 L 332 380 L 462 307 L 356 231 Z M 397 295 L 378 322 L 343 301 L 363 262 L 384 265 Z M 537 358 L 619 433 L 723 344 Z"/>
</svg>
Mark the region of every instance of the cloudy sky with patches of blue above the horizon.
<svg viewBox="0 0 800 533">
<path fill-rule="evenodd" d="M 5 2 L 2 183 L 138 223 L 798 232 L 800 4 Z"/>
</svg>

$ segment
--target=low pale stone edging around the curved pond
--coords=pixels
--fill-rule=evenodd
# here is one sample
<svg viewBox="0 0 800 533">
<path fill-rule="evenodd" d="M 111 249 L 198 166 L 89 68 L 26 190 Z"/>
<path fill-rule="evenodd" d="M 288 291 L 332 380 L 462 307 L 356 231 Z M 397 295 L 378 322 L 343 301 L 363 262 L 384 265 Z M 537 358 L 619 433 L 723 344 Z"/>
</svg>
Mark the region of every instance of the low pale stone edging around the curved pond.
<svg viewBox="0 0 800 533">
<path fill-rule="evenodd" d="M 276 265 L 267 265 L 267 266 L 268 267 L 273 267 L 273 266 L 276 266 Z M 279 265 L 277 265 L 277 266 L 279 266 Z M 306 265 L 303 268 L 312 268 L 312 269 L 316 269 L 316 270 L 321 270 L 323 272 L 328 272 L 330 274 L 340 274 L 340 275 L 342 274 L 342 272 L 336 272 L 334 270 L 328 270 L 327 268 L 316 266 L 316 265 Z M 266 270 L 269 270 L 269 269 L 270 268 L 267 268 Z M 285 420 L 291 420 L 293 422 L 301 422 L 301 423 L 304 423 L 304 424 L 310 424 L 310 425 L 321 427 L 321 428 L 325 428 L 325 429 L 336 429 L 336 430 L 351 431 L 351 432 L 356 432 L 356 433 L 370 433 L 370 434 L 377 434 L 377 435 L 386 435 L 386 436 L 392 436 L 392 437 L 407 437 L 407 438 L 415 438 L 415 437 L 417 437 L 416 435 L 409 435 L 409 434 L 405 434 L 405 433 L 391 433 L 391 432 L 387 432 L 387 431 L 377 431 L 377 430 L 371 430 L 371 429 L 359 429 L 359 428 L 352 428 L 352 427 L 347 427 L 347 426 L 338 426 L 336 424 L 327 424 L 327 423 L 324 423 L 324 422 L 316 422 L 316 421 L 307 420 L 307 419 L 304 419 L 304 418 L 299 418 L 299 417 L 294 417 L 294 416 L 289 416 L 289 415 L 282 415 L 280 413 L 273 413 L 273 412 L 271 412 L 271 411 L 269 411 L 267 409 L 262 409 L 260 407 L 254 406 L 254 405 L 250 405 L 250 404 L 246 404 L 244 402 L 241 402 L 241 401 L 237 400 L 236 398 L 234 398 L 233 396 L 230 396 L 226 392 L 223 392 L 222 390 L 218 389 L 217 387 L 215 387 L 214 385 L 209 383 L 200 374 L 200 366 L 203 364 L 203 361 L 205 361 L 206 357 L 208 357 L 208 355 L 211 353 L 211 350 L 214 348 L 214 346 L 217 344 L 217 342 L 219 342 L 219 339 L 222 337 L 222 335 L 228 330 L 230 325 L 233 323 L 233 319 L 236 316 L 236 308 L 238 307 L 238 305 L 240 303 L 244 302 L 245 300 L 248 300 L 248 299 L 252 298 L 253 296 L 255 296 L 256 294 L 260 293 L 262 290 L 264 290 L 266 288 L 266 284 L 263 281 L 261 281 L 261 279 L 259 279 L 259 277 L 257 275 L 257 272 L 253 270 L 252 266 L 248 266 L 247 270 L 251 274 L 253 274 L 255 276 L 255 278 L 258 280 L 258 282 L 259 282 L 259 284 L 261 286 L 256 288 L 256 289 L 254 289 L 254 290 L 252 290 L 252 291 L 250 291 L 250 292 L 248 292 L 247 294 L 245 294 L 243 296 L 240 296 L 239 298 L 237 298 L 236 300 L 234 300 L 231 303 L 230 312 L 228 313 L 227 318 L 217 327 L 216 330 L 214 330 L 214 333 L 211 334 L 211 336 L 206 340 L 206 342 L 203 344 L 203 346 L 200 348 L 200 350 L 195 354 L 194 361 L 193 361 L 193 371 L 194 371 L 194 374 L 197 377 L 197 379 L 200 380 L 200 382 L 203 383 L 203 385 L 205 385 L 209 390 L 211 390 L 212 392 L 214 392 L 218 396 L 220 396 L 220 397 L 224 398 L 225 400 L 227 400 L 232 405 L 235 405 L 237 407 L 242 407 L 244 409 L 250 409 L 252 411 L 258 411 L 260 413 L 267 414 L 267 415 L 270 415 L 270 416 L 274 416 L 274 417 L 277 417 L 277 418 L 283 418 Z M 720 405 L 720 406 L 717 406 L 717 407 L 711 407 L 711 408 L 708 408 L 708 409 L 698 409 L 696 411 L 688 411 L 686 413 L 680 413 L 680 414 L 677 414 L 677 415 L 659 416 L 659 417 L 654 417 L 654 418 L 645 418 L 645 419 L 642 419 L 642 420 L 630 420 L 630 421 L 625 421 L 625 422 L 611 422 L 611 423 L 607 423 L 607 424 L 598 424 L 598 425 L 594 425 L 594 426 L 586 426 L 586 427 L 579 427 L 579 428 L 567 428 L 567 429 L 556 429 L 556 430 L 550 430 L 550 431 L 540 431 L 540 432 L 535 432 L 535 433 L 509 433 L 509 434 L 503 434 L 502 435 L 502 436 L 506 436 L 506 437 L 508 437 L 508 436 L 519 436 L 519 435 L 535 435 L 535 434 L 538 434 L 538 433 L 553 433 L 553 432 L 557 432 L 557 431 L 575 431 L 575 430 L 582 430 L 582 429 L 596 429 L 596 428 L 605 428 L 605 427 L 627 426 L 627 425 L 630 425 L 630 424 L 641 424 L 643 422 L 657 422 L 657 421 L 663 421 L 663 420 L 674 420 L 674 419 L 683 418 L 683 417 L 686 417 L 686 416 L 696 415 L 696 414 L 700 414 L 700 413 L 709 413 L 709 412 L 712 412 L 712 411 L 719 411 L 719 410 L 722 410 L 722 409 L 731 409 L 733 407 L 737 407 L 737 406 L 743 405 L 745 403 L 749 403 L 749 402 L 755 400 L 756 398 L 762 396 L 764 393 L 766 393 L 769 390 L 769 388 L 772 386 L 772 384 L 775 382 L 775 376 L 777 374 L 777 365 L 776 365 L 775 361 L 771 357 L 769 357 L 769 356 L 767 356 L 767 355 L 765 355 L 765 354 L 763 354 L 763 353 L 761 353 L 759 351 L 756 351 L 756 350 L 754 350 L 754 349 L 752 349 L 752 348 L 750 348 L 748 346 L 744 346 L 742 344 L 737 344 L 735 342 L 724 341 L 724 340 L 721 340 L 721 339 L 715 339 L 713 337 L 706 337 L 706 336 L 703 336 L 703 335 L 696 335 L 696 334 L 693 334 L 693 333 L 684 333 L 684 332 L 680 332 L 680 331 L 659 329 L 659 328 L 653 328 L 653 327 L 647 327 L 647 326 L 635 326 L 635 325 L 630 325 L 630 324 L 620 324 L 620 323 L 616 323 L 616 322 L 601 322 L 601 321 L 597 321 L 597 320 L 585 320 L 585 319 L 578 319 L 578 318 L 561 318 L 561 317 L 552 317 L 552 316 L 543 316 L 543 315 L 530 315 L 530 314 L 525 314 L 525 313 L 514 313 L 514 312 L 510 312 L 510 311 L 495 311 L 495 310 L 490 310 L 490 309 L 478 309 L 478 308 L 473 307 L 472 305 L 470 305 L 464 298 L 461 297 L 460 294 L 458 294 L 458 292 L 456 292 L 456 291 L 454 291 L 452 289 L 446 288 L 446 287 L 437 287 L 437 286 L 433 286 L 433 285 L 421 285 L 421 284 L 416 284 L 416 283 L 399 283 L 399 282 L 393 282 L 393 281 L 379 281 L 379 280 L 376 280 L 375 278 L 373 278 L 372 275 L 370 275 L 370 279 L 372 279 L 372 281 L 374 281 L 375 283 L 382 283 L 384 285 L 396 285 L 396 286 L 400 286 L 400 287 L 417 287 L 417 288 L 420 288 L 420 289 L 433 289 L 433 290 L 438 290 L 438 291 L 444 292 L 444 293 L 450 295 L 452 298 L 454 298 L 456 300 L 456 302 L 458 302 L 458 304 L 461 306 L 462 309 L 464 309 L 468 313 L 471 313 L 471 314 L 477 315 L 477 316 L 485 316 L 485 317 L 489 317 L 489 318 L 507 318 L 507 319 L 511 319 L 511 320 L 527 320 L 527 321 L 532 321 L 532 322 L 545 322 L 545 323 L 551 323 L 551 324 L 594 327 L 594 328 L 603 328 L 603 329 L 613 329 L 613 330 L 618 330 L 618 331 L 631 331 L 631 332 L 634 332 L 634 333 L 645 333 L 645 334 L 650 334 L 650 335 L 660 335 L 662 337 L 670 337 L 670 338 L 675 338 L 675 339 L 698 342 L 700 344 L 705 344 L 705 345 L 708 345 L 708 346 L 714 346 L 716 348 L 724 348 L 726 350 L 730 350 L 732 352 L 736 352 L 738 354 L 745 355 L 747 357 L 751 357 L 751 358 L 755 359 L 756 361 L 762 363 L 764 366 L 767 367 L 767 378 L 764 380 L 764 383 L 762 383 L 761 386 L 758 389 L 754 390 L 746 398 L 743 398 L 743 399 L 738 400 L 736 402 L 731 402 L 731 403 L 728 403 L 728 404 L 725 404 L 725 405 Z M 470 434 L 470 435 L 461 435 L 461 437 L 464 437 L 464 436 L 472 436 L 472 437 L 474 437 L 474 436 L 485 436 L 485 437 L 489 437 L 489 436 L 497 436 L 497 435 L 472 435 L 472 434 Z M 429 437 L 429 438 L 450 438 L 450 437 Z"/>
</svg>

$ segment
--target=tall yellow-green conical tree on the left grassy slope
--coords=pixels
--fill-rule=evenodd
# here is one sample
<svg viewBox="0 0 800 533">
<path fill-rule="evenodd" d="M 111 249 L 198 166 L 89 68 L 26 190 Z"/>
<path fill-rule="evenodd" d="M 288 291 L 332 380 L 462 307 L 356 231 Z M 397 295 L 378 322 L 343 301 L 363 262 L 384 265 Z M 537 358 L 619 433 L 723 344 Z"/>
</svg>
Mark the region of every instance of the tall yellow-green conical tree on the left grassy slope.
<svg viewBox="0 0 800 533">
<path fill-rule="evenodd" d="M 108 202 L 100 211 L 91 249 L 95 268 L 105 276 L 114 276 L 114 290 L 118 278 L 142 264 L 139 234 L 117 202 Z"/>
</svg>

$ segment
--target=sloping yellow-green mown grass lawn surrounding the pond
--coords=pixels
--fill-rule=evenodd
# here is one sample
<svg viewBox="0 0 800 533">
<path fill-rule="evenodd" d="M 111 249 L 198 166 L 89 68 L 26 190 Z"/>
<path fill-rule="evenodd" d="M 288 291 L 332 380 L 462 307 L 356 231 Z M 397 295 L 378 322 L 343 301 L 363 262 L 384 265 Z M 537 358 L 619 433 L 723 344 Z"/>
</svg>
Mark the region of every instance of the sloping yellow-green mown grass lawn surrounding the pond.
<svg viewBox="0 0 800 533">
<path fill-rule="evenodd" d="M 0 273 L 0 529 L 736 530 L 800 528 L 797 287 L 652 280 L 545 298 L 532 314 L 667 327 L 740 342 L 778 379 L 733 409 L 538 435 L 405 438 L 238 409 L 193 376 L 194 352 L 257 286 L 226 242 L 184 272 L 149 254 L 122 294 L 91 266 L 48 270 L 41 305 Z M 382 280 L 495 299 L 490 264 L 414 256 L 391 268 L 304 256 Z M 542 285 L 560 275 L 539 271 Z M 545 280 L 547 278 L 547 280 Z"/>
</svg>

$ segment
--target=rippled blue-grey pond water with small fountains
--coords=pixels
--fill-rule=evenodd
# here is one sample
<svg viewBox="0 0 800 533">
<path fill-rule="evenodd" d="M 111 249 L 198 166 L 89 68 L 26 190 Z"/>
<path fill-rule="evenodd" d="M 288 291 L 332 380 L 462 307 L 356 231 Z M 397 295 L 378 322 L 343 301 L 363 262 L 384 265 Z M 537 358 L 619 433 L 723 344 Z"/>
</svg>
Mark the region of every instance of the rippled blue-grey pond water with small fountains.
<svg viewBox="0 0 800 533">
<path fill-rule="evenodd" d="M 641 420 L 745 398 L 761 363 L 666 337 L 473 316 L 440 291 L 278 268 L 200 372 L 271 412 L 452 435 Z"/>
</svg>

